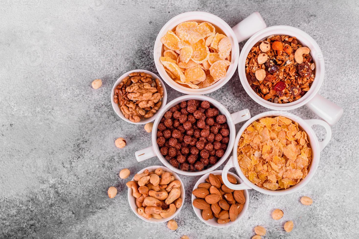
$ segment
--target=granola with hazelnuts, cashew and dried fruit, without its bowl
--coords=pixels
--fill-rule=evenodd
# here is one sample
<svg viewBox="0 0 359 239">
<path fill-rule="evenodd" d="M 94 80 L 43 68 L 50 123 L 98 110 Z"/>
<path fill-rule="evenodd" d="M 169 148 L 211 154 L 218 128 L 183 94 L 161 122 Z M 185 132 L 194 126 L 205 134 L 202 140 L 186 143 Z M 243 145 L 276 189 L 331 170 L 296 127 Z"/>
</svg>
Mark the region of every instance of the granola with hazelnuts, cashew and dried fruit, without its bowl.
<svg viewBox="0 0 359 239">
<path fill-rule="evenodd" d="M 309 52 L 295 37 L 269 36 L 248 53 L 247 81 L 258 96 L 269 102 L 296 101 L 314 81 L 315 64 Z"/>
</svg>

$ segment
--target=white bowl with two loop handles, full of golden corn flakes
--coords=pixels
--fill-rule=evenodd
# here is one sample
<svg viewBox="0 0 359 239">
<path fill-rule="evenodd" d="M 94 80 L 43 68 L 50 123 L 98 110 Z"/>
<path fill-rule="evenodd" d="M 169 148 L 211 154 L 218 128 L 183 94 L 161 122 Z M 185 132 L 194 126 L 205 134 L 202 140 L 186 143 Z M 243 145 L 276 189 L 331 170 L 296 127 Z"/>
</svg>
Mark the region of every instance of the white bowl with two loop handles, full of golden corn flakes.
<svg viewBox="0 0 359 239">
<path fill-rule="evenodd" d="M 318 141 L 313 125 L 326 129 Z M 222 172 L 230 189 L 255 189 L 268 195 L 284 195 L 304 187 L 318 168 L 320 152 L 331 138 L 330 126 L 320 119 L 302 119 L 284 111 L 257 114 L 239 130 Z M 234 167 L 243 182 L 234 185 L 227 172 Z"/>
</svg>

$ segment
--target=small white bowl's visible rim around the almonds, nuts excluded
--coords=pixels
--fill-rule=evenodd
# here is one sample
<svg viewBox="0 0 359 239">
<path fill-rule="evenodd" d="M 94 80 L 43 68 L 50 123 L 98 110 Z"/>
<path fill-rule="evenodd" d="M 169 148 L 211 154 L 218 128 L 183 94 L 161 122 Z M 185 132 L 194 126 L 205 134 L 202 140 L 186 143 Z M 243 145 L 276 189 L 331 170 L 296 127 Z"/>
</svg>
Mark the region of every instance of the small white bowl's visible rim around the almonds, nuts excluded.
<svg viewBox="0 0 359 239">
<path fill-rule="evenodd" d="M 221 175 L 222 170 L 216 170 L 216 171 L 213 171 L 213 172 L 209 172 L 209 173 L 203 175 L 202 177 L 200 177 L 200 179 L 196 182 L 195 186 L 193 187 L 193 190 L 197 189 L 199 184 L 206 182 L 206 179 L 208 179 L 209 174 Z M 232 172 L 228 172 L 228 174 L 235 177 L 237 179 L 237 182 L 239 182 L 239 183 L 242 182 L 242 179 L 240 179 L 237 175 L 233 174 Z M 225 223 L 225 224 L 217 223 L 217 218 L 212 218 L 212 219 L 209 219 L 207 221 L 204 220 L 202 218 L 202 210 L 198 209 L 198 208 L 195 208 L 193 206 L 193 200 L 196 199 L 196 196 L 193 195 L 193 194 L 192 194 L 192 207 L 193 207 L 193 210 L 195 211 L 196 215 L 198 216 L 198 218 L 201 221 L 203 221 L 205 224 L 210 225 L 210 226 L 214 226 L 216 228 L 225 228 L 225 227 L 232 226 L 232 225 L 236 224 L 239 221 L 239 219 L 241 219 L 243 217 L 243 215 L 246 213 L 246 211 L 248 209 L 248 205 L 249 205 L 249 196 L 248 196 L 248 190 L 247 189 L 243 190 L 243 195 L 246 198 L 246 203 L 244 203 L 244 206 L 243 206 L 243 209 L 242 209 L 241 213 L 238 214 L 237 219 L 235 221 L 229 221 L 229 223 Z"/>
</svg>

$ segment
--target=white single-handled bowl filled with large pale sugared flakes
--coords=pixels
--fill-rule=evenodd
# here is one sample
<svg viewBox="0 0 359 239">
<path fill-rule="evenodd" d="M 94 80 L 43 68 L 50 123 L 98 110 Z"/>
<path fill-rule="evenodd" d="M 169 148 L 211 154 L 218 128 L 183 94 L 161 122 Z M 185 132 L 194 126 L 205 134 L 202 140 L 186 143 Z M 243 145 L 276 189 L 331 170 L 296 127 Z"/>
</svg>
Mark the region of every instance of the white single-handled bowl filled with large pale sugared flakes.
<svg viewBox="0 0 359 239">
<path fill-rule="evenodd" d="M 224 86 L 236 71 L 238 42 L 266 27 L 256 12 L 233 28 L 216 15 L 187 12 L 169 20 L 154 44 L 154 61 L 164 81 L 185 94 Z"/>
</svg>

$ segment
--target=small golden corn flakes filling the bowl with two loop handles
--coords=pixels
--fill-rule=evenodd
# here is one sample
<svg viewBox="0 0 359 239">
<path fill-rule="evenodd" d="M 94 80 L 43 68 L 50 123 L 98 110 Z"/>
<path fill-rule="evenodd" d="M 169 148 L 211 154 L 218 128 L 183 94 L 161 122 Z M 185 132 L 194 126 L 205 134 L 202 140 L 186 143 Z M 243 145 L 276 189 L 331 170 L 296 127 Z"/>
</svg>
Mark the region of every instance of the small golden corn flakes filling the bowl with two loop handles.
<svg viewBox="0 0 359 239">
<path fill-rule="evenodd" d="M 265 117 L 244 130 L 237 157 L 243 174 L 253 184 L 280 190 L 308 175 L 312 149 L 297 122 L 283 116 Z"/>
</svg>

